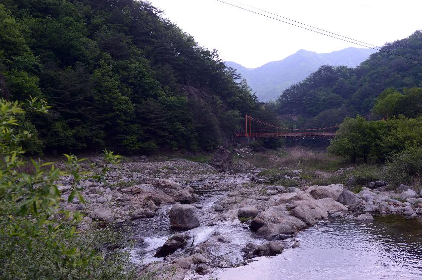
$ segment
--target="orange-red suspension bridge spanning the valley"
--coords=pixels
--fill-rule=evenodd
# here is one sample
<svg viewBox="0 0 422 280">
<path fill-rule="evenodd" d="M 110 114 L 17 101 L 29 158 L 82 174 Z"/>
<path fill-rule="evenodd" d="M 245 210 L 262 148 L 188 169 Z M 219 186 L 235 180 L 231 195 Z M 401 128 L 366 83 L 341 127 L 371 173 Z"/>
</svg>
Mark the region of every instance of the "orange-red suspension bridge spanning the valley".
<svg viewBox="0 0 422 280">
<path fill-rule="evenodd" d="M 373 114 L 365 116 L 368 119 Z M 248 137 L 248 138 L 306 138 L 306 139 L 329 139 L 335 136 L 338 124 L 328 127 L 319 128 L 288 128 L 281 127 L 271 123 L 264 122 L 252 118 L 251 115 L 245 116 L 245 131 L 237 132 L 237 137 Z"/>
</svg>

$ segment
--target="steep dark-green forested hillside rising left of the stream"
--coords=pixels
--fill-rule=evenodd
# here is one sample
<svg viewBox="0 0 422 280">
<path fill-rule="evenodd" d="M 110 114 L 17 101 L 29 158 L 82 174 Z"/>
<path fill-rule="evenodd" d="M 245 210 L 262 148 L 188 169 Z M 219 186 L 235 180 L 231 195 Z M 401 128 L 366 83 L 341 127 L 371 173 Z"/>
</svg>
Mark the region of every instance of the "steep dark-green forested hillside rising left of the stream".
<svg viewBox="0 0 422 280">
<path fill-rule="evenodd" d="M 265 115 L 217 51 L 136 0 L 0 0 L 0 95 L 45 98 L 27 149 L 207 150 Z"/>
</svg>

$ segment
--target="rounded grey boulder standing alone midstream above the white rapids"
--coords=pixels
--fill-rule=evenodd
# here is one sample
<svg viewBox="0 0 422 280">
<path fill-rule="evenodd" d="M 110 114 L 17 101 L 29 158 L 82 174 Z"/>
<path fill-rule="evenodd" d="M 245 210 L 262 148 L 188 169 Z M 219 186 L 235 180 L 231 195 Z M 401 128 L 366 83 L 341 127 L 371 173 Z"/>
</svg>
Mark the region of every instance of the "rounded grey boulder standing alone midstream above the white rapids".
<svg viewBox="0 0 422 280">
<path fill-rule="evenodd" d="M 191 205 L 175 204 L 170 209 L 170 226 L 178 230 L 190 230 L 199 227 L 199 216 Z"/>
</svg>

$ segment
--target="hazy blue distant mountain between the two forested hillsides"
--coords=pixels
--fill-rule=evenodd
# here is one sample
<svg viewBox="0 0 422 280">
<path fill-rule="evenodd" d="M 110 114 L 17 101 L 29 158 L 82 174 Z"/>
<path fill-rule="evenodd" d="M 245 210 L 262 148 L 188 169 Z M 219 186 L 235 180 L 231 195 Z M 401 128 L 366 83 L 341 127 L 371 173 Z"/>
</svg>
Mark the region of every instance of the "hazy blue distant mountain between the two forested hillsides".
<svg viewBox="0 0 422 280">
<path fill-rule="evenodd" d="M 237 69 L 260 101 L 270 101 L 276 100 L 284 89 L 305 79 L 322 65 L 356 67 L 374 52 L 374 49 L 355 47 L 330 53 L 301 49 L 283 60 L 269 62 L 254 69 L 231 61 L 226 62 L 226 65 Z"/>
</svg>

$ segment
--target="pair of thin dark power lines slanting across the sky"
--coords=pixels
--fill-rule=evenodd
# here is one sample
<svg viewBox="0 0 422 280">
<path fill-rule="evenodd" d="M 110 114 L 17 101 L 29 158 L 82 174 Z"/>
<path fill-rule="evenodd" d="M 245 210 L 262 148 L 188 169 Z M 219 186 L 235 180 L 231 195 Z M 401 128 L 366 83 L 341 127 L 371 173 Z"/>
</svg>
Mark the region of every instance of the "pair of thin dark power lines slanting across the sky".
<svg viewBox="0 0 422 280">
<path fill-rule="evenodd" d="M 406 58 L 406 59 L 410 59 L 410 60 L 422 62 L 422 60 L 419 60 L 419 59 L 416 59 L 416 58 L 407 57 L 407 56 L 404 56 L 404 55 L 401 55 L 401 54 L 389 52 L 389 51 L 382 50 L 382 49 L 377 48 L 377 47 L 371 47 L 372 45 L 371 44 L 368 44 L 368 43 L 364 43 L 364 44 L 357 43 L 357 42 L 360 42 L 360 41 L 357 41 L 357 40 L 350 41 L 350 40 L 353 40 L 353 39 L 350 39 L 350 38 L 348 38 L 350 40 L 345 40 L 345 39 L 338 38 L 338 37 L 335 37 L 335 36 L 332 36 L 332 35 L 329 35 L 329 34 L 326 34 L 326 33 L 322 33 L 322 32 L 319 32 L 319 31 L 316 31 L 316 30 L 313 30 L 313 29 L 309 29 L 309 28 L 306 28 L 306 27 L 303 27 L 303 26 L 300 26 L 300 25 L 297 25 L 297 24 L 294 24 L 294 23 L 291 23 L 291 22 L 287 22 L 287 21 L 284 21 L 284 20 L 281 20 L 281 19 L 278 19 L 278 18 L 269 16 L 269 15 L 266 15 L 266 14 L 262 14 L 262 13 L 259 13 L 259 12 L 253 11 L 253 10 L 249 10 L 247 8 L 244 8 L 244 7 L 241 7 L 241 6 L 237 6 L 237 5 L 232 4 L 232 3 L 228 3 L 228 2 L 225 2 L 225 1 L 222 1 L 222 0 L 217 0 L 217 1 L 218 2 L 222 2 L 224 4 L 227 4 L 227 5 L 230 5 L 230 6 L 233 6 L 233 7 L 236 7 L 236 8 L 241 9 L 241 10 L 245 10 L 245 11 L 248 11 L 248 12 L 251 12 L 251 13 L 254 13 L 254 14 L 257 14 L 257 15 L 261 15 L 261 16 L 264 16 L 264 17 L 267 17 L 267 18 L 270 18 L 270 19 L 274 19 L 274 20 L 280 21 L 282 23 L 290 24 L 290 25 L 293 25 L 293 26 L 296 26 L 296 27 L 299 27 L 299 28 L 302 28 L 302 29 L 305 29 L 305 30 L 308 30 L 308 31 L 312 31 L 312 32 L 315 32 L 315 33 L 318 33 L 318 34 L 322 34 L 322 35 L 325 35 L 325 36 L 328 36 L 328 37 L 331 37 L 331 38 L 334 38 L 334 39 L 338 39 L 338 40 L 346 41 L 346 42 L 353 43 L 353 44 L 356 44 L 356 45 L 360 45 L 360 46 L 363 46 L 363 47 L 375 49 L 377 51 L 385 52 L 385 53 L 388 53 L 388 54 L 391 54 L 391 55 L 395 55 L 395 56 L 400 56 L 400 57 L 403 57 L 403 58 Z M 272 13 L 267 12 L 267 11 L 264 11 L 264 10 L 261 10 L 261 11 L 266 12 L 268 14 L 272 14 Z M 273 14 L 273 15 L 275 15 L 275 14 Z M 276 15 L 276 16 L 278 16 L 278 15 Z M 281 18 L 283 18 L 283 17 L 281 17 Z M 285 18 L 285 19 L 287 19 L 287 18 Z M 294 22 L 299 23 L 299 24 L 302 24 L 302 25 L 305 25 L 305 26 L 308 26 L 308 27 L 312 27 L 310 25 L 306 25 L 306 24 L 300 23 L 298 21 L 294 21 Z M 314 27 L 312 27 L 312 28 L 314 28 Z M 319 29 L 319 28 L 316 28 L 316 29 L 321 30 L 321 31 L 325 31 L 325 30 Z M 325 32 L 327 32 L 327 31 L 325 31 Z M 328 32 L 328 33 L 335 34 L 335 33 L 331 33 L 331 32 Z M 337 36 L 340 36 L 340 35 L 337 35 Z M 340 37 L 347 38 L 347 37 L 344 37 L 344 36 L 340 36 Z"/>
</svg>

